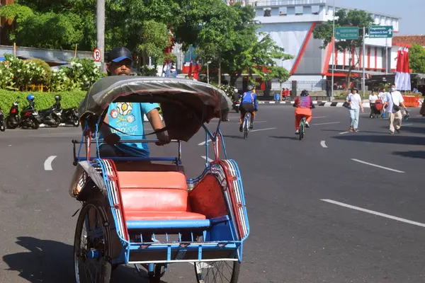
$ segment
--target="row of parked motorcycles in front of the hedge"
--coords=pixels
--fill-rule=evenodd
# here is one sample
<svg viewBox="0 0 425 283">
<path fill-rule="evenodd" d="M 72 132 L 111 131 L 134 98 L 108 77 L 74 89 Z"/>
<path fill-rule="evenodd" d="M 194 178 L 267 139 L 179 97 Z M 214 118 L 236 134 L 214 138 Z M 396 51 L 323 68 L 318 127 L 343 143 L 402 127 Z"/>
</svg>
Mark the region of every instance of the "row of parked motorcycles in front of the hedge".
<svg viewBox="0 0 425 283">
<path fill-rule="evenodd" d="M 35 109 L 35 97 L 27 96 L 28 107 L 19 112 L 18 101 L 13 102 L 8 117 L 5 118 L 3 110 L 0 108 L 0 131 L 8 129 L 38 129 L 41 124 L 50 127 L 59 127 L 60 124 L 73 125 L 79 127 L 77 107 L 62 109 L 61 96 L 55 96 L 55 104 L 51 108 L 44 110 Z"/>
</svg>

